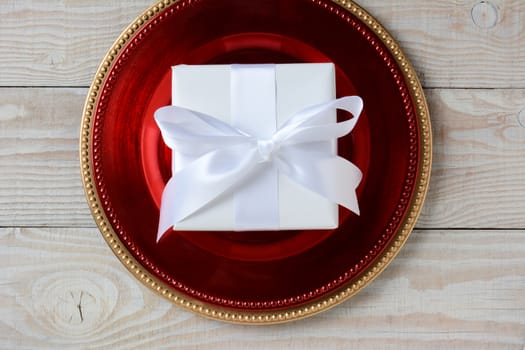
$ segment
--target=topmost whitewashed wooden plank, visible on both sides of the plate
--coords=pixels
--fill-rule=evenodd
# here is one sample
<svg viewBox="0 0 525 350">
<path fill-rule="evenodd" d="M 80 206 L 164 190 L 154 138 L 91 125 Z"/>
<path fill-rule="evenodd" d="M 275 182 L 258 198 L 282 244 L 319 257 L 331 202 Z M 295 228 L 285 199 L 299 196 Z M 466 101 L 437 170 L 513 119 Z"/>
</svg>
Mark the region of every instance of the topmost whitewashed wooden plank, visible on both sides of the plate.
<svg viewBox="0 0 525 350">
<path fill-rule="evenodd" d="M 525 2 L 358 2 L 400 41 L 425 86 L 525 88 Z M 2 1 L 0 85 L 87 86 L 112 42 L 151 3 Z"/>
</svg>

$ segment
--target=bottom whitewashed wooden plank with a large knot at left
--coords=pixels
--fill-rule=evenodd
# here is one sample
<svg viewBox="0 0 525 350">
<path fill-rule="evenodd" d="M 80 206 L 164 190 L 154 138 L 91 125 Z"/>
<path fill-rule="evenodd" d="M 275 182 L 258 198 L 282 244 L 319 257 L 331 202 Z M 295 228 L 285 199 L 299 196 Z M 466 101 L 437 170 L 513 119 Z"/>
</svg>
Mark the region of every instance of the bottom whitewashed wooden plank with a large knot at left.
<svg viewBox="0 0 525 350">
<path fill-rule="evenodd" d="M 416 231 L 349 301 L 268 328 L 180 310 L 136 281 L 96 229 L 0 229 L 0 347 L 521 349 L 523 237 Z"/>
</svg>

